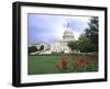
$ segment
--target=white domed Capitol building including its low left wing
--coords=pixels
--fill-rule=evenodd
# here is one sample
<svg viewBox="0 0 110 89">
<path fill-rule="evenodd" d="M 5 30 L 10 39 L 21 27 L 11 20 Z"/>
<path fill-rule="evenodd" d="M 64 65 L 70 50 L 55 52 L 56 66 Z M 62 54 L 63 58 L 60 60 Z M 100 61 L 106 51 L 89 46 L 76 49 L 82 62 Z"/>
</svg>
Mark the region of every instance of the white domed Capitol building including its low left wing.
<svg viewBox="0 0 110 89">
<path fill-rule="evenodd" d="M 72 29 L 69 27 L 69 23 L 67 23 L 64 34 L 63 34 L 63 40 L 57 41 L 50 46 L 46 44 L 38 44 L 35 45 L 36 47 L 44 45 L 44 49 L 41 52 L 35 52 L 32 54 L 52 54 L 52 53 L 72 53 L 72 49 L 68 47 L 68 42 L 74 41 L 74 33 Z"/>
</svg>

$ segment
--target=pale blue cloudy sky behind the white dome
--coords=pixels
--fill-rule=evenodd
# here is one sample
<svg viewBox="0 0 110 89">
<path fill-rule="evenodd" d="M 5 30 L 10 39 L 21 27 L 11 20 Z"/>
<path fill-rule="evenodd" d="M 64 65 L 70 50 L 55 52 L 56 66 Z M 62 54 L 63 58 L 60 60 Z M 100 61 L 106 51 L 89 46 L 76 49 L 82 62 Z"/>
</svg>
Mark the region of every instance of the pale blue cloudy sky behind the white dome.
<svg viewBox="0 0 110 89">
<path fill-rule="evenodd" d="M 68 22 L 75 40 L 87 27 L 90 16 L 28 14 L 28 44 L 53 43 L 62 40 Z"/>
</svg>

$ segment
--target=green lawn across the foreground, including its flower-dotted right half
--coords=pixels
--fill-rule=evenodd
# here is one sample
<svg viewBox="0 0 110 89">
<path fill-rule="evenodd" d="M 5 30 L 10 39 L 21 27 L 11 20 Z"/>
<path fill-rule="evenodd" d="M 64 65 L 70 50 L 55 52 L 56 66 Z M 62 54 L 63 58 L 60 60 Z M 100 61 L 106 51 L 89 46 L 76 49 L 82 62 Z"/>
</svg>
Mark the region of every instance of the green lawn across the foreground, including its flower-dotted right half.
<svg viewBox="0 0 110 89">
<path fill-rule="evenodd" d="M 62 58 L 65 57 L 67 62 L 66 68 L 62 68 Z M 78 66 L 76 63 L 82 59 L 87 65 Z M 81 62 L 80 62 L 81 64 Z M 55 67 L 58 65 L 58 68 Z M 84 73 L 84 71 L 98 71 L 98 56 L 87 55 L 36 55 L 29 56 L 28 59 L 28 74 L 62 74 L 62 73 Z"/>
</svg>

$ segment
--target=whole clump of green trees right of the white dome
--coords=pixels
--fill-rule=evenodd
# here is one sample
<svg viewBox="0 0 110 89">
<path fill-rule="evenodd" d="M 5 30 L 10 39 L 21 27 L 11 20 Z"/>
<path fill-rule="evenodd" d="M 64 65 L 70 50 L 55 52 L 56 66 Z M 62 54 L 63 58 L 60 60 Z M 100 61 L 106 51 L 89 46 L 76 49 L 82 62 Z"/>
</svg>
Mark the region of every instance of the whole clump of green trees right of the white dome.
<svg viewBox="0 0 110 89">
<path fill-rule="evenodd" d="M 78 41 L 68 43 L 68 46 L 80 52 L 98 52 L 98 18 L 89 19 L 88 27 L 80 34 Z"/>
</svg>

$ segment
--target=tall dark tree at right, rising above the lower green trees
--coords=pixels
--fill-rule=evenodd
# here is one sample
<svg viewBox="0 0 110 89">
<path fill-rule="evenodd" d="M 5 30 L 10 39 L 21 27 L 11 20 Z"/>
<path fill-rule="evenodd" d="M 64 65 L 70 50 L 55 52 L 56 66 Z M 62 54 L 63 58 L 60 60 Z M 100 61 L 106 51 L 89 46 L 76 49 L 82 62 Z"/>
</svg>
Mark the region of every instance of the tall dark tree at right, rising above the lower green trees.
<svg viewBox="0 0 110 89">
<path fill-rule="evenodd" d="M 92 16 L 89 20 L 88 27 L 85 30 L 85 36 L 90 40 L 91 44 L 95 45 L 95 52 L 98 52 L 98 18 Z"/>
</svg>

